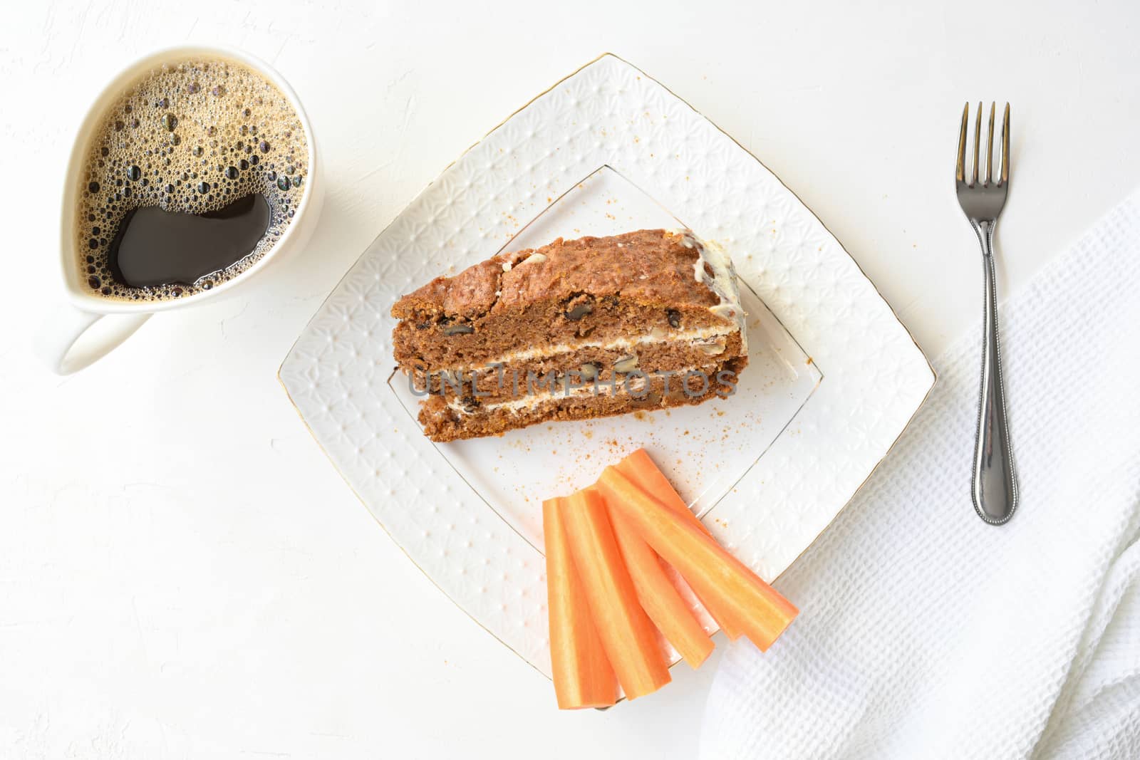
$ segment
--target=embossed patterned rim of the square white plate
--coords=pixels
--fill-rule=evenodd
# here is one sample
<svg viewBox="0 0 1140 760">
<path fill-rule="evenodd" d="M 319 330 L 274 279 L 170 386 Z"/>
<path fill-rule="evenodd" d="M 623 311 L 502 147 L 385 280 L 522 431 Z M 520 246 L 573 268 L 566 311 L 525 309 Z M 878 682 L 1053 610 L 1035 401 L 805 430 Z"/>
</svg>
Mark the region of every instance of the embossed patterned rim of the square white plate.
<svg viewBox="0 0 1140 760">
<path fill-rule="evenodd" d="M 549 675 L 543 556 L 469 485 L 388 386 L 402 293 L 498 251 L 612 166 L 702 236 L 823 368 L 789 427 L 705 515 L 776 577 L 850 499 L 934 384 L 842 246 L 763 164 L 634 66 L 603 56 L 449 166 L 376 238 L 306 327 L 280 379 L 334 465 L 464 611 Z"/>
</svg>

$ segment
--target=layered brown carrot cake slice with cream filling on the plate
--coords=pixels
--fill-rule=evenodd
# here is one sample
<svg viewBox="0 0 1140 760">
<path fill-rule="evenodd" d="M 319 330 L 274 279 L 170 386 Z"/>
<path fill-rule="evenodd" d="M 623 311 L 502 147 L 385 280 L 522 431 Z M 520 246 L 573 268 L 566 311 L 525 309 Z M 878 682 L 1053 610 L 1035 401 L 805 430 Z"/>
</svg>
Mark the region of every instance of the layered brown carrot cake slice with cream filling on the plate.
<svg viewBox="0 0 1140 760">
<path fill-rule="evenodd" d="M 732 261 L 687 230 L 499 253 L 392 316 L 433 441 L 726 398 L 748 363 Z"/>
</svg>

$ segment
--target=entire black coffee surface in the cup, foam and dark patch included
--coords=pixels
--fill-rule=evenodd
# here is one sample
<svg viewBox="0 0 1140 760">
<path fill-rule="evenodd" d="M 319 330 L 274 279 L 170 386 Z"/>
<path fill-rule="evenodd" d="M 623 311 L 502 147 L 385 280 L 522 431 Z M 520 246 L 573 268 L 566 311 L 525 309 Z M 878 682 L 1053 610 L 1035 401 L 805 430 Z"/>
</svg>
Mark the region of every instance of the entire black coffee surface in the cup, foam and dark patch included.
<svg viewBox="0 0 1140 760">
<path fill-rule="evenodd" d="M 81 177 L 88 286 L 164 300 L 231 279 L 288 227 L 308 170 L 301 122 L 261 74 L 220 58 L 147 72 L 107 111 Z"/>
</svg>

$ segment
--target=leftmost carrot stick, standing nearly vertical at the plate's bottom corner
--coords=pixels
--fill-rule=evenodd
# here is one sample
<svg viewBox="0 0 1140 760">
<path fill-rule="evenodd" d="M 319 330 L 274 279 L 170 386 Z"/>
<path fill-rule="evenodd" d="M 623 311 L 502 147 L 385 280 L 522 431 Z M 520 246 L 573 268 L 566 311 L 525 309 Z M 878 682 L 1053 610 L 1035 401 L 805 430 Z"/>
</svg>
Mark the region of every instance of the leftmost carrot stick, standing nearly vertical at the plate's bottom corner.
<svg viewBox="0 0 1140 760">
<path fill-rule="evenodd" d="M 562 498 L 543 501 L 554 694 L 562 710 L 605 708 L 618 700 L 618 679 L 605 659 L 570 557 L 561 514 L 564 502 Z"/>
</svg>

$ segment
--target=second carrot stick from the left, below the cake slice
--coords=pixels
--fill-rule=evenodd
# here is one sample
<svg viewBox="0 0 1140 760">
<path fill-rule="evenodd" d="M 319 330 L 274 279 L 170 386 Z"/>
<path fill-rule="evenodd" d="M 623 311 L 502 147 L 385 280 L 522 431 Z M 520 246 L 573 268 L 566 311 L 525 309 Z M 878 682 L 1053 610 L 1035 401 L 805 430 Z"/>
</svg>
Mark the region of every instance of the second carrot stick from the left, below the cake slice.
<svg viewBox="0 0 1140 760">
<path fill-rule="evenodd" d="M 630 700 L 656 692 L 669 683 L 669 669 L 653 623 L 637 603 L 605 502 L 597 491 L 585 489 L 567 499 L 562 516 L 575 569 L 618 683 Z"/>
</svg>

